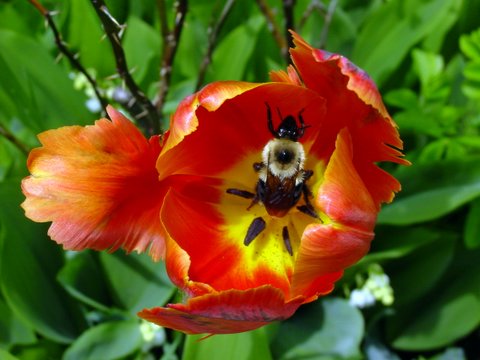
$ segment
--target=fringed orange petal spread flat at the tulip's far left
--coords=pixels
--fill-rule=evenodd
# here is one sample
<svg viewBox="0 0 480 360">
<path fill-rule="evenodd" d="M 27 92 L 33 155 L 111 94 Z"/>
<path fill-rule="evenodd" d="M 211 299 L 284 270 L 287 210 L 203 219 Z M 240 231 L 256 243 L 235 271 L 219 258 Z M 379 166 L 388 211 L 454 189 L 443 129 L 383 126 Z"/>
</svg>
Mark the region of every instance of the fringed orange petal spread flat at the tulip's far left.
<svg viewBox="0 0 480 360">
<path fill-rule="evenodd" d="M 120 247 L 164 254 L 160 207 L 164 190 L 155 167 L 159 138 L 145 139 L 123 115 L 40 134 L 28 158 L 22 207 L 34 221 L 52 221 L 50 237 L 64 248 Z"/>
</svg>

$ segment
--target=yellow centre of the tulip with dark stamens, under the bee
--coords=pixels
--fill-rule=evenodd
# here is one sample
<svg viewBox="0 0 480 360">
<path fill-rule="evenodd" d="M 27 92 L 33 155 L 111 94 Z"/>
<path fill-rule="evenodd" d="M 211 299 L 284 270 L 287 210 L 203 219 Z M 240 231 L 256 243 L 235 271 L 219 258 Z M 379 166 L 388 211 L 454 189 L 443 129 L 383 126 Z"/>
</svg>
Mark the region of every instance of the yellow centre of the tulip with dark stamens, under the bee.
<svg viewBox="0 0 480 360">
<path fill-rule="evenodd" d="M 254 153 L 245 157 L 222 174 L 225 188 L 219 210 L 224 217 L 223 230 L 227 238 L 234 239 L 238 246 L 243 247 L 242 253 L 245 254 L 247 263 L 258 265 L 265 262 L 269 268 L 293 269 L 306 226 L 321 223 L 324 217 L 315 208 L 315 194 L 322 182 L 325 166 L 313 156 L 302 160 L 301 171 L 305 168 L 305 172 L 311 173 L 304 181 L 307 189 L 305 193 L 302 183 L 297 179 L 300 178 L 299 171 L 293 172 L 291 178 L 287 179 L 293 183 L 292 186 L 267 189 L 276 192 L 276 196 L 286 197 L 292 194 L 283 194 L 282 191 L 300 191 L 297 200 L 281 212 L 280 216 L 275 216 L 272 215 L 275 212 L 267 208 L 263 195 L 259 194 L 259 181 L 263 181 L 267 187 L 271 186 L 265 181 L 270 169 L 266 168 L 265 161 L 259 161 L 266 157 L 265 150 L 263 152 L 263 156 Z M 307 206 L 316 217 L 305 211 Z"/>
</svg>

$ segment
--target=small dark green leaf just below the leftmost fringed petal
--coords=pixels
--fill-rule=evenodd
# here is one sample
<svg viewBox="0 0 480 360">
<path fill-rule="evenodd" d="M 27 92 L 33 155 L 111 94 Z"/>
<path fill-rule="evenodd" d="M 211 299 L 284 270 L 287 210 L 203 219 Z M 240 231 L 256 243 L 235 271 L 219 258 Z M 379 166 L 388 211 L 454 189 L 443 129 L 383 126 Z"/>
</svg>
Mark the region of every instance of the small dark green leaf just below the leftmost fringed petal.
<svg viewBox="0 0 480 360">
<path fill-rule="evenodd" d="M 74 298 L 108 311 L 111 300 L 97 255 L 90 251 L 73 255 L 58 273 L 58 280 Z"/>
</svg>

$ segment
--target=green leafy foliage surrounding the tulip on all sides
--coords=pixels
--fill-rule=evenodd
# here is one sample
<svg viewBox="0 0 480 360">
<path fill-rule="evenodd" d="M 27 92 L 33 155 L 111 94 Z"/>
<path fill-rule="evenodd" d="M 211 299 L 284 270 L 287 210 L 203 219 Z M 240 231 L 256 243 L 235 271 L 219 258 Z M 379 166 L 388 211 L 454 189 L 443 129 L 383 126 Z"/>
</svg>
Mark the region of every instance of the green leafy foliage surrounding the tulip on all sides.
<svg viewBox="0 0 480 360">
<path fill-rule="evenodd" d="M 283 69 L 284 27 L 293 25 L 377 82 L 414 164 L 389 169 L 403 191 L 384 206 L 370 254 L 332 295 L 290 320 L 202 342 L 141 323 L 137 311 L 176 296 L 162 263 L 121 252 L 64 252 L 46 236 L 48 224 L 32 223 L 19 207 L 36 134 L 90 124 L 101 114 L 78 68 L 58 56 L 42 14 L 28 1 L 1 0 L 0 358 L 480 359 L 480 2 L 284 1 L 294 4 L 289 20 L 280 0 L 190 1 L 170 60 L 161 3 L 107 1 L 126 25 L 128 69 L 157 105 L 165 89 L 161 64 L 171 65 L 158 105 L 163 127 L 202 84 L 265 81 L 269 70 Z M 138 115 L 125 101 L 130 95 L 115 76 L 92 3 L 42 5 L 58 11 L 53 20 L 66 46 L 108 102 Z M 165 9 L 174 29 L 173 2 Z M 388 275 L 394 302 L 384 305 L 377 296 L 360 310 L 348 299 L 367 284 L 371 269 Z"/>
</svg>

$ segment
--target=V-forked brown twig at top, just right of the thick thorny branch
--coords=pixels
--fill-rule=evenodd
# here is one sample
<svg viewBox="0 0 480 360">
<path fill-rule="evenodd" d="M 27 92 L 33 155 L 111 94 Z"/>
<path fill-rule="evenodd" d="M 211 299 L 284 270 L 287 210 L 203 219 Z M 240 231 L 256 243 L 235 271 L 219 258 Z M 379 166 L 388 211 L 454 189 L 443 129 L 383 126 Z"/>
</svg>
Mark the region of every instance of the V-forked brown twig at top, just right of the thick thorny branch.
<svg viewBox="0 0 480 360">
<path fill-rule="evenodd" d="M 175 23 L 170 30 L 167 24 L 167 14 L 165 9 L 165 0 L 157 0 L 161 33 L 163 38 L 163 56 L 160 67 L 160 84 L 157 97 L 155 98 L 155 107 L 161 113 L 168 91 L 170 90 L 170 78 L 172 76 L 172 66 L 175 54 L 178 49 L 178 42 L 182 33 L 183 24 L 188 11 L 188 0 L 177 0 L 175 3 Z"/>
</svg>

